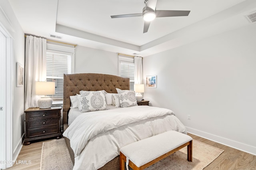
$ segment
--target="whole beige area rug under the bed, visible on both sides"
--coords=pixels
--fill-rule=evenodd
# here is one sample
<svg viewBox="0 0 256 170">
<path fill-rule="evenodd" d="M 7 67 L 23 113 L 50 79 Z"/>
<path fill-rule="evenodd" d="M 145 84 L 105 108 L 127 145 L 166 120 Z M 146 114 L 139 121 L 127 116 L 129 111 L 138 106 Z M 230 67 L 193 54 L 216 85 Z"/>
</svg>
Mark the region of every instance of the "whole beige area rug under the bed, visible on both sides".
<svg viewBox="0 0 256 170">
<path fill-rule="evenodd" d="M 223 151 L 193 140 L 192 162 L 188 162 L 187 147 L 184 147 L 146 170 L 202 170 Z M 72 170 L 72 168 L 73 164 L 64 138 L 43 142 L 40 170 Z"/>
</svg>

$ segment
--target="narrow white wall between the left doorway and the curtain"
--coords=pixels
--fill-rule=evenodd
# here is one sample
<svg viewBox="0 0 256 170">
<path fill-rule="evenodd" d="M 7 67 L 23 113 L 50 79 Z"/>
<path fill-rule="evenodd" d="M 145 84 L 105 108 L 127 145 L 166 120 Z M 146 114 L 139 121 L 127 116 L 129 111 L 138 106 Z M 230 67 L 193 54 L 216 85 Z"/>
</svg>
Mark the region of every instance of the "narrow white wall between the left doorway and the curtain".
<svg viewBox="0 0 256 170">
<path fill-rule="evenodd" d="M 24 67 L 24 32 L 9 1 L 1 0 L 0 7 L 5 13 L 5 16 L 0 17 L 0 22 L 13 38 L 13 108 L 12 113 L 7 114 L 12 114 L 12 154 L 13 160 L 15 160 L 22 147 L 22 137 L 24 135 L 24 85 L 16 87 L 16 62 L 21 63 Z M 6 20 L 9 20 L 9 22 L 6 22 Z"/>
</svg>

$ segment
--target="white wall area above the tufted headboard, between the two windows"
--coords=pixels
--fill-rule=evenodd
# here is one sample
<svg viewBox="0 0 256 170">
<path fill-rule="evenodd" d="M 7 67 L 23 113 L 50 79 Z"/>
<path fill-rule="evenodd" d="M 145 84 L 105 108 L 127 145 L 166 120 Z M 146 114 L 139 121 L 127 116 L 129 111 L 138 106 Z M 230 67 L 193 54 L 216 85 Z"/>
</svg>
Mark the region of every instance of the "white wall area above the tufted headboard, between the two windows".
<svg viewBox="0 0 256 170">
<path fill-rule="evenodd" d="M 78 45 L 75 56 L 75 73 L 118 75 L 117 53 Z"/>
</svg>

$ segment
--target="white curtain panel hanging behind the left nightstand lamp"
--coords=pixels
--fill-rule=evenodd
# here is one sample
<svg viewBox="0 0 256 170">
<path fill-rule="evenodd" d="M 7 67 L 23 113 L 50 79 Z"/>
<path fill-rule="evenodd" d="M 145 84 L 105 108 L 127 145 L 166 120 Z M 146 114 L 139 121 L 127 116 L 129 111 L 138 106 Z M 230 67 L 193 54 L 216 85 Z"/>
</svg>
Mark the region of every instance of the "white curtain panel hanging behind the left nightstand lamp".
<svg viewBox="0 0 256 170">
<path fill-rule="evenodd" d="M 26 37 L 25 109 L 38 107 L 36 81 L 46 81 L 46 39 Z"/>
</svg>

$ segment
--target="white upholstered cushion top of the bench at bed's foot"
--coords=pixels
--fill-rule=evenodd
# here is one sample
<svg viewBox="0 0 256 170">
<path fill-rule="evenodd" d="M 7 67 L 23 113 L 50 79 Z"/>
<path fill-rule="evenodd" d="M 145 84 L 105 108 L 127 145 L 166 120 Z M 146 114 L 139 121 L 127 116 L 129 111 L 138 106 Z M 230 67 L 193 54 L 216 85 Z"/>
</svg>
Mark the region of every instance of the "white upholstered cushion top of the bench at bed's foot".
<svg viewBox="0 0 256 170">
<path fill-rule="evenodd" d="M 190 136 L 170 130 L 128 144 L 122 147 L 120 152 L 140 167 L 190 140 L 192 140 Z"/>
</svg>

